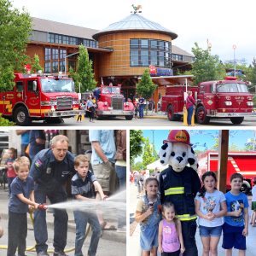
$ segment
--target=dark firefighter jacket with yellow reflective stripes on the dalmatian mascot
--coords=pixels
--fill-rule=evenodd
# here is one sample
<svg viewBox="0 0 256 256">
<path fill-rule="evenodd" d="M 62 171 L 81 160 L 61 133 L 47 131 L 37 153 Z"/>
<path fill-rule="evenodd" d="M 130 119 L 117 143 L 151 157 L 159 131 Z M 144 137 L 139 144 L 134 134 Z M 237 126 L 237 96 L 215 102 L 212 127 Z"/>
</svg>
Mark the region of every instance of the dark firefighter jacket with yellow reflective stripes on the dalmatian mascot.
<svg viewBox="0 0 256 256">
<path fill-rule="evenodd" d="M 172 166 L 160 173 L 161 203 L 172 202 L 181 221 L 196 218 L 195 195 L 201 188 L 197 172 L 185 166 L 182 172 L 175 172 Z"/>
</svg>

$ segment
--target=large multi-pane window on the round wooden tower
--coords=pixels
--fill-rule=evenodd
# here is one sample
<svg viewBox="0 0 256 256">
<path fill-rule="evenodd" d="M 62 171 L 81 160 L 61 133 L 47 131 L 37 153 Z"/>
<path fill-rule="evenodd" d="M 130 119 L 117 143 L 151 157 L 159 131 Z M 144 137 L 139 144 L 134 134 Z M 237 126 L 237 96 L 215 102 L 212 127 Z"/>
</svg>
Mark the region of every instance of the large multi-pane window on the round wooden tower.
<svg viewBox="0 0 256 256">
<path fill-rule="evenodd" d="M 155 39 L 130 39 L 130 66 L 172 67 L 171 42 Z"/>
</svg>

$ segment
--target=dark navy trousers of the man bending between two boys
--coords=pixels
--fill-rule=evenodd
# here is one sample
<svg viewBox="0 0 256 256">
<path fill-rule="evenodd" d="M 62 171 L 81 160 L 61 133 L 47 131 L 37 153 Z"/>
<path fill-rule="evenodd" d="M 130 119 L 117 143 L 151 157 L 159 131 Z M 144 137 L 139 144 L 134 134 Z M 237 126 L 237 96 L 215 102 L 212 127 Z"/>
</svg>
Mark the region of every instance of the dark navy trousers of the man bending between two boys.
<svg viewBox="0 0 256 256">
<path fill-rule="evenodd" d="M 54 191 L 44 191 L 35 189 L 35 201 L 37 203 L 45 203 L 46 196 L 48 196 L 50 203 L 55 204 L 62 201 L 67 201 L 67 193 L 62 187 L 55 189 Z M 55 251 L 63 251 L 67 244 L 67 212 L 65 210 L 54 210 L 54 243 Z M 36 249 L 37 253 L 41 251 L 47 251 L 48 240 L 47 224 L 46 224 L 46 212 L 35 211 L 34 213 L 34 235 L 37 241 Z"/>
</svg>

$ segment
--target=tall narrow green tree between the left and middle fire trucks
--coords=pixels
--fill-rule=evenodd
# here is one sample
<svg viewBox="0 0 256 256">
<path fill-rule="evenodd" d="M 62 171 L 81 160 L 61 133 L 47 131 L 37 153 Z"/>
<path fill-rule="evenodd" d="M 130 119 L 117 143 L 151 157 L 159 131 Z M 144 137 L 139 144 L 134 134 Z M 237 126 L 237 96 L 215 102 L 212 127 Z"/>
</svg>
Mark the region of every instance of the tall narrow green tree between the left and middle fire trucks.
<svg viewBox="0 0 256 256">
<path fill-rule="evenodd" d="M 78 82 L 81 86 L 81 92 L 86 90 L 93 90 L 96 87 L 96 80 L 92 71 L 92 61 L 89 59 L 88 50 L 84 45 L 79 45 L 79 58 L 78 58 Z"/>
</svg>

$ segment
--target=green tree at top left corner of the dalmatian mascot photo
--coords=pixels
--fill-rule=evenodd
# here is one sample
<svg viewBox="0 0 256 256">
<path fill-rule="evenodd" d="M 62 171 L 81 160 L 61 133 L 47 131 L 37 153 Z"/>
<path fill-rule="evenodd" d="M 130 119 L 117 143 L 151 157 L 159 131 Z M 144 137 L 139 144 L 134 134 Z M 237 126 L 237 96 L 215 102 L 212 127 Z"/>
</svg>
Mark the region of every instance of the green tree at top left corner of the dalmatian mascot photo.
<svg viewBox="0 0 256 256">
<path fill-rule="evenodd" d="M 143 131 L 131 130 L 130 131 L 130 162 L 131 166 L 134 164 L 134 160 L 137 156 L 143 153 Z"/>
</svg>

